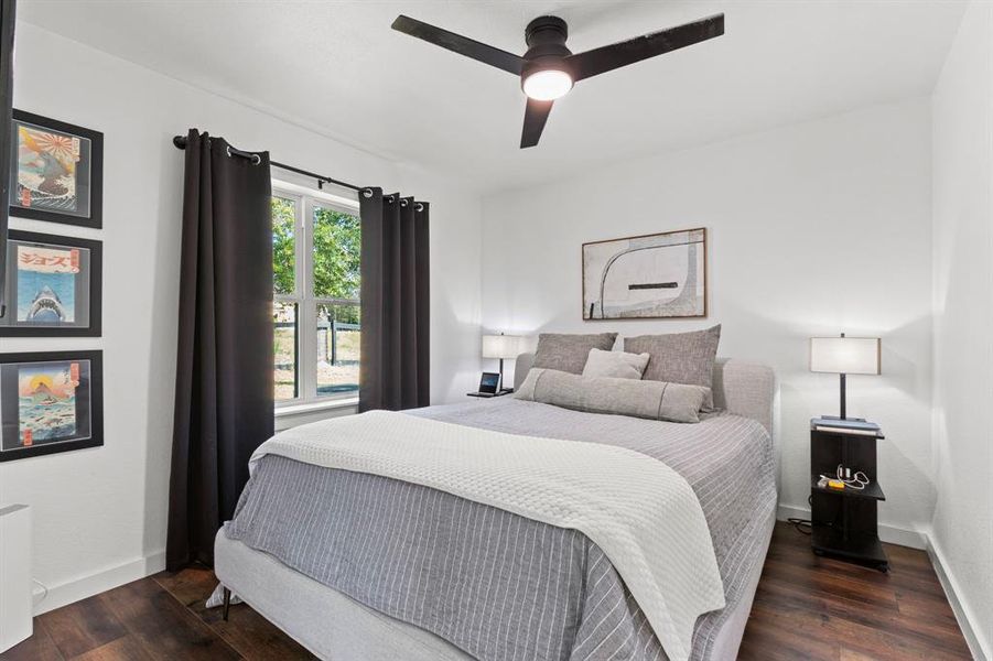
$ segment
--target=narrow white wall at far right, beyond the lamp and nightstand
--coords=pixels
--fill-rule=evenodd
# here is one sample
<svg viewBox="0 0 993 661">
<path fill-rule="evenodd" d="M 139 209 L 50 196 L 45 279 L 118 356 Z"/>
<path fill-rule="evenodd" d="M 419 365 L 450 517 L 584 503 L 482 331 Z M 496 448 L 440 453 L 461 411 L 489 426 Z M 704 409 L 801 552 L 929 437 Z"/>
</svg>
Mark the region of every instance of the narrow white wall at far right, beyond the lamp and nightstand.
<svg viewBox="0 0 993 661">
<path fill-rule="evenodd" d="M 931 107 L 931 544 L 972 624 L 973 651 L 993 659 L 993 4 L 967 10 Z"/>
</svg>

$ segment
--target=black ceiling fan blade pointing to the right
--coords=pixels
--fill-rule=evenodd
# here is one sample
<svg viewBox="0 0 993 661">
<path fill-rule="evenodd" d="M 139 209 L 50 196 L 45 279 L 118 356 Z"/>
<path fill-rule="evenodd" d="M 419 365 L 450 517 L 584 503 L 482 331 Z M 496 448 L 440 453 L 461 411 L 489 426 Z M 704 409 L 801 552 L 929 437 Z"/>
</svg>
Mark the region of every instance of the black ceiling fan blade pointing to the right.
<svg viewBox="0 0 993 661">
<path fill-rule="evenodd" d="M 582 80 L 722 34 L 724 34 L 724 14 L 721 13 L 609 46 L 576 53 L 570 55 L 566 61 L 574 67 L 573 80 Z"/>
</svg>

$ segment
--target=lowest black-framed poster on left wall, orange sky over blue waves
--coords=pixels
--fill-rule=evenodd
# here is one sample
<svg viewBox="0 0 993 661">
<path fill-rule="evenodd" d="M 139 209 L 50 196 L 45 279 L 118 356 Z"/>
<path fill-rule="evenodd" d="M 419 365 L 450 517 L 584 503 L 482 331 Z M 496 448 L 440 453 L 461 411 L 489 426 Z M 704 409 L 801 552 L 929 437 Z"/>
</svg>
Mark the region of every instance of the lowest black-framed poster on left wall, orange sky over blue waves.
<svg viewBox="0 0 993 661">
<path fill-rule="evenodd" d="M 0 354 L 0 462 L 104 444 L 101 351 Z"/>
</svg>

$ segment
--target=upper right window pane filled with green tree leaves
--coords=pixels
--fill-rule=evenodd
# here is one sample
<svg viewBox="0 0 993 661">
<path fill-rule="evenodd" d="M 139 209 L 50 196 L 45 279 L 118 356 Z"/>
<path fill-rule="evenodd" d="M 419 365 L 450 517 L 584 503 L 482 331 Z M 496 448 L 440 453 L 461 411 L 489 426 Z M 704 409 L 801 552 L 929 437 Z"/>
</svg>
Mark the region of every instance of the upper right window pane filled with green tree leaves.
<svg viewBox="0 0 993 661">
<path fill-rule="evenodd" d="M 361 224 L 357 216 L 314 207 L 314 296 L 358 299 Z"/>
</svg>

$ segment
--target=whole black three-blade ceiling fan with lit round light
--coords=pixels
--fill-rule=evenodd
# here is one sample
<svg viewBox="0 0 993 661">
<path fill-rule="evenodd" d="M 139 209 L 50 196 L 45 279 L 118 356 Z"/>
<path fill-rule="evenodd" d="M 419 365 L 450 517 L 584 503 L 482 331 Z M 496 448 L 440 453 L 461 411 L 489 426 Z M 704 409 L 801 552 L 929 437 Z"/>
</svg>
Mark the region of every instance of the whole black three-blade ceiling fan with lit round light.
<svg viewBox="0 0 993 661">
<path fill-rule="evenodd" d="M 528 52 L 524 57 L 402 14 L 397 17 L 392 28 L 520 76 L 520 87 L 528 97 L 520 136 L 520 147 L 524 149 L 538 144 L 552 104 L 565 96 L 575 83 L 721 36 L 724 34 L 724 14 L 714 14 L 575 55 L 565 47 L 565 39 L 569 36 L 565 21 L 558 17 L 539 17 L 525 29 Z"/>
</svg>

